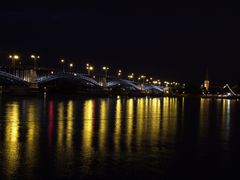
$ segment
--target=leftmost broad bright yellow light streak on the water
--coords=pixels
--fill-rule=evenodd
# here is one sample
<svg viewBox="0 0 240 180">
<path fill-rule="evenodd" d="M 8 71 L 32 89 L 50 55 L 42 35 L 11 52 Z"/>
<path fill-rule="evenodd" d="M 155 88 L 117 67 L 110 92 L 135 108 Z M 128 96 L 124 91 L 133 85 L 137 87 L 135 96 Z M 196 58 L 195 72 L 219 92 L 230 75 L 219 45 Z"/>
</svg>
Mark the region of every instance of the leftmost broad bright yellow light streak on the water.
<svg viewBox="0 0 240 180">
<path fill-rule="evenodd" d="M 7 176 L 14 175 L 19 164 L 19 104 L 12 102 L 6 105 L 5 132 L 5 169 Z"/>
</svg>

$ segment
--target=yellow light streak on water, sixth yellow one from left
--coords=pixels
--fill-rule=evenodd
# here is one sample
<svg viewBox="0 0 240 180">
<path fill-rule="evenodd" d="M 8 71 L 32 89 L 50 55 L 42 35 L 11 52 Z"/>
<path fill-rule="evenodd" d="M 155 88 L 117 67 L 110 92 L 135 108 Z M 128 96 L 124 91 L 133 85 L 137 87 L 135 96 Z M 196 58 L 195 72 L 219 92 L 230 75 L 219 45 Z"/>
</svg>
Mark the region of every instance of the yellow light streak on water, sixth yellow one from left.
<svg viewBox="0 0 240 180">
<path fill-rule="evenodd" d="M 100 101 L 100 127 L 99 127 L 99 150 L 105 152 L 106 137 L 108 128 L 109 101 L 101 99 Z"/>
</svg>

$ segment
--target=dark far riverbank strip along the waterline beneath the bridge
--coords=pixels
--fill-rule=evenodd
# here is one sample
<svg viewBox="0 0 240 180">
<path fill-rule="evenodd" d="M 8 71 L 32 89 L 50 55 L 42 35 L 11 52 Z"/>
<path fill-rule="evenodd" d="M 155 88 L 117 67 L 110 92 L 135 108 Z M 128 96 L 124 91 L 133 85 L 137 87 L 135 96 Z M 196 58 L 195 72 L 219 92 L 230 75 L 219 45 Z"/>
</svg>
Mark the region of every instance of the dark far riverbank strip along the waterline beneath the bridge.
<svg viewBox="0 0 240 180">
<path fill-rule="evenodd" d="M 216 94 L 171 94 L 171 93 L 152 93 L 145 91 L 111 91 L 108 89 L 82 89 L 82 90 L 61 90 L 61 89 L 40 89 L 36 87 L 11 87 L 8 89 L 0 89 L 0 94 L 3 96 L 23 96 L 23 97 L 37 97 L 44 94 L 58 96 L 58 95 L 70 95 L 70 96 L 82 96 L 82 97 L 196 97 L 206 99 L 240 99 L 240 95 L 228 96 L 228 95 L 216 95 Z"/>
</svg>

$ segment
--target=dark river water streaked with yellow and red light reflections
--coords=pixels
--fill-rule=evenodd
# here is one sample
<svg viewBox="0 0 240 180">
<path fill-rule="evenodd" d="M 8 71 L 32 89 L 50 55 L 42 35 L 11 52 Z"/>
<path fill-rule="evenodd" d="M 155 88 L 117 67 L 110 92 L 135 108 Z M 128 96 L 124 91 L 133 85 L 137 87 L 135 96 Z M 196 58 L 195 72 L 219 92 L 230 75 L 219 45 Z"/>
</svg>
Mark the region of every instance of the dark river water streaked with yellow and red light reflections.
<svg viewBox="0 0 240 180">
<path fill-rule="evenodd" d="M 0 179 L 240 177 L 237 100 L 0 102 Z"/>
</svg>

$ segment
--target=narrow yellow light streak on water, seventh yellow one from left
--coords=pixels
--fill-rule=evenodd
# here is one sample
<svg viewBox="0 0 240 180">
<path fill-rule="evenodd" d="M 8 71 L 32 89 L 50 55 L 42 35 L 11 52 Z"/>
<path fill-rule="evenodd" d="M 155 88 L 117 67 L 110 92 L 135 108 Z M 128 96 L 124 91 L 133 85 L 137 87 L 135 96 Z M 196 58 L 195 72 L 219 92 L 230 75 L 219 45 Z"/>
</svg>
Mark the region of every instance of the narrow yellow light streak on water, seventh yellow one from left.
<svg viewBox="0 0 240 180">
<path fill-rule="evenodd" d="M 121 99 L 117 99 L 116 102 L 116 121 L 114 129 L 114 145 L 115 151 L 118 153 L 120 151 L 120 141 L 121 141 L 121 118 L 122 118 L 122 107 Z"/>
</svg>

